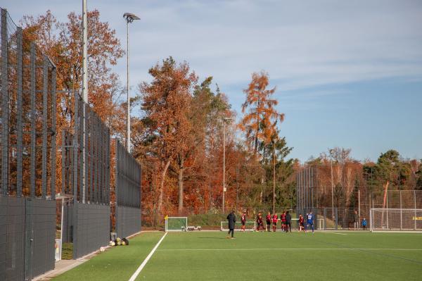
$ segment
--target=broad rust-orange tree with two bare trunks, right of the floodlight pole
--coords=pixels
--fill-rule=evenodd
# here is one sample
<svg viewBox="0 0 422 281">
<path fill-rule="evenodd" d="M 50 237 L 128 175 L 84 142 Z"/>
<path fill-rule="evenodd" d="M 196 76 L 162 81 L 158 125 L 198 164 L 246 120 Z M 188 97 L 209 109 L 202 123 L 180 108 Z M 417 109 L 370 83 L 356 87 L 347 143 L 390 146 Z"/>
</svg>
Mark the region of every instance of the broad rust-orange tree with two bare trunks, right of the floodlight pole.
<svg viewBox="0 0 422 281">
<path fill-rule="evenodd" d="M 139 91 L 145 113 L 143 123 L 151 136 L 154 154 L 160 161 L 158 210 L 162 211 L 164 183 L 172 161 L 177 163 L 183 179 L 184 153 L 191 148 L 188 145 L 191 132 L 188 110 L 197 77 L 188 63 L 178 64 L 172 57 L 166 58 L 161 65 L 157 63 L 148 73 L 153 81 L 143 82 L 139 85 Z M 183 181 L 179 185 L 180 198 L 183 200 Z"/>
</svg>

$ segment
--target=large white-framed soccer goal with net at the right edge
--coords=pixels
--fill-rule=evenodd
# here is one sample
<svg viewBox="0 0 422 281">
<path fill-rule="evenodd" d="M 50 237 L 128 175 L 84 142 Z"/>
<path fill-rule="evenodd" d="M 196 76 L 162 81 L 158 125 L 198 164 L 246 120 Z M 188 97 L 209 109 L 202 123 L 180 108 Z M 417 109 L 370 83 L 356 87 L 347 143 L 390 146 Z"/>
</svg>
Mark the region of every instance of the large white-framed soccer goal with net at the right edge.
<svg viewBox="0 0 422 281">
<path fill-rule="evenodd" d="M 371 231 L 422 231 L 422 209 L 371 208 Z"/>
</svg>

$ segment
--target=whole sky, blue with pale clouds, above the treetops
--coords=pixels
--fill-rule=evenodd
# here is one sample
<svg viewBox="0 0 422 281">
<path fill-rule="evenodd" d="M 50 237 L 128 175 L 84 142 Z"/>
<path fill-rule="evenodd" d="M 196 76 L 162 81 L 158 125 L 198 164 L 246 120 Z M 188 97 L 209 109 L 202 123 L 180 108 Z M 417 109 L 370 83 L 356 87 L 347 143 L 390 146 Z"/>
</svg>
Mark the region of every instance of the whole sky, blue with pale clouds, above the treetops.
<svg viewBox="0 0 422 281">
<path fill-rule="evenodd" d="M 2 0 L 13 20 L 51 10 L 58 20 L 82 0 Z M 376 161 L 388 149 L 422 158 L 422 1 L 88 0 L 126 49 L 130 85 L 168 56 L 200 80 L 213 76 L 241 117 L 253 72 L 269 73 L 279 129 L 306 161 L 328 148 Z M 126 58 L 113 68 L 126 82 Z"/>
</svg>

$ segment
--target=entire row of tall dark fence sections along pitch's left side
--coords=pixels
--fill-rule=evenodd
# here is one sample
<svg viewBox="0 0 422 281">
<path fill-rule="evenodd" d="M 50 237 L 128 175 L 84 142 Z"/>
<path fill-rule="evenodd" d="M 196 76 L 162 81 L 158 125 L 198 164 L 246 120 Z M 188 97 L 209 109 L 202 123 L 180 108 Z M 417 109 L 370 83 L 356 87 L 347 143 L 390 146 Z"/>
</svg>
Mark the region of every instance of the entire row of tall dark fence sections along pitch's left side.
<svg viewBox="0 0 422 281">
<path fill-rule="evenodd" d="M 108 244 L 110 129 L 56 89 L 56 66 L 3 8 L 0 23 L 0 280 L 32 280 L 54 268 L 58 235 L 73 258 Z M 116 165 L 118 229 L 132 234 L 141 170 L 122 149 Z"/>
</svg>

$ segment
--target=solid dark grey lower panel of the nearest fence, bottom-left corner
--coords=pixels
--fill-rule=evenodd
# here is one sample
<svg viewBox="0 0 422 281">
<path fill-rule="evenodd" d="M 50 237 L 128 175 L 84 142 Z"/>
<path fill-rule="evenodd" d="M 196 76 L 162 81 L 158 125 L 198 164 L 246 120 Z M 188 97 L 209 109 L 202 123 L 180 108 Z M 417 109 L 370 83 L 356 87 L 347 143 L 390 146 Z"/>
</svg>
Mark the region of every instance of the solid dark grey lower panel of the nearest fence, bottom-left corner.
<svg viewBox="0 0 422 281">
<path fill-rule="evenodd" d="M 0 280 L 31 280 L 54 268 L 56 201 L 0 196 Z"/>
</svg>

